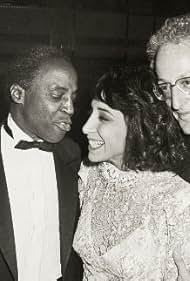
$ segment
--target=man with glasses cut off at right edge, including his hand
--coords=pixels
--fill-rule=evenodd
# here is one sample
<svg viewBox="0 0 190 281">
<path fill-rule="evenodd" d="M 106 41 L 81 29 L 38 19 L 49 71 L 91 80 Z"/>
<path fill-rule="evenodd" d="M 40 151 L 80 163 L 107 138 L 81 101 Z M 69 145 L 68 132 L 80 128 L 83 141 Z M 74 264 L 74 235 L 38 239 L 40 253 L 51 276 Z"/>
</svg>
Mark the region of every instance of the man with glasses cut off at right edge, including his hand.
<svg viewBox="0 0 190 281">
<path fill-rule="evenodd" d="M 155 94 L 171 108 L 190 143 L 190 14 L 166 19 L 150 38 L 147 53 L 161 89 Z M 177 172 L 190 182 L 189 153 L 181 171 Z M 179 272 L 177 280 L 189 281 L 190 272 L 185 267 L 180 249 L 176 249 L 173 256 Z"/>
</svg>

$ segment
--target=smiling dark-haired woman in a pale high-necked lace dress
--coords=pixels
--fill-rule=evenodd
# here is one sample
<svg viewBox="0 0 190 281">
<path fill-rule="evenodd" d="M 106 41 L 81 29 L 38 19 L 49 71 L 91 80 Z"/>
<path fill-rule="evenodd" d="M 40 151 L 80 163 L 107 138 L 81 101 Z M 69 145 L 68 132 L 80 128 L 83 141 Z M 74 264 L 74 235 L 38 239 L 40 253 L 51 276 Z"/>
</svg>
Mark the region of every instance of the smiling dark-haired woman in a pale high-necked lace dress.
<svg viewBox="0 0 190 281">
<path fill-rule="evenodd" d="M 174 172 L 186 146 L 159 91 L 146 68 L 109 72 L 96 85 L 74 238 L 85 281 L 174 281 L 172 249 L 190 245 L 190 189 Z M 184 256 L 190 262 L 188 247 Z"/>
</svg>

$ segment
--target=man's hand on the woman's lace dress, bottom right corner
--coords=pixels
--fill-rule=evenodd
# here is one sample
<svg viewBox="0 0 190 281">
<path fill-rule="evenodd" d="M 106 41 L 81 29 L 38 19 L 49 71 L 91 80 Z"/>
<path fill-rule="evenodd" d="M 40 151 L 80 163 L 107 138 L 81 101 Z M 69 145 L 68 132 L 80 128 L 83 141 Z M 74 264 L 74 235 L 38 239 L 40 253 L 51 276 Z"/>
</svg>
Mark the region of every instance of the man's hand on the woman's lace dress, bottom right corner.
<svg viewBox="0 0 190 281">
<path fill-rule="evenodd" d="M 178 269 L 177 281 L 190 281 L 190 272 L 187 270 L 181 255 L 181 246 L 174 250 L 173 259 Z"/>
</svg>

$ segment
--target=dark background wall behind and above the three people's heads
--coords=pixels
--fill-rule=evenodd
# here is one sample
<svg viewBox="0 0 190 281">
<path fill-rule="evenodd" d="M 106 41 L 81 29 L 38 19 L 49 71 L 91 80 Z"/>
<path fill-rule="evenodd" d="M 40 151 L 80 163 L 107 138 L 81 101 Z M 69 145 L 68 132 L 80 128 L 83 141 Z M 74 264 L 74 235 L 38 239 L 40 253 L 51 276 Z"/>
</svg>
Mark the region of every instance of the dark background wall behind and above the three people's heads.
<svg viewBox="0 0 190 281">
<path fill-rule="evenodd" d="M 6 115 L 3 75 L 16 52 L 35 44 L 67 50 L 80 77 L 82 103 L 74 118 L 80 130 L 95 80 L 111 65 L 147 63 L 146 42 L 166 17 L 190 12 L 190 0 L 0 1 L 0 119 Z"/>
</svg>

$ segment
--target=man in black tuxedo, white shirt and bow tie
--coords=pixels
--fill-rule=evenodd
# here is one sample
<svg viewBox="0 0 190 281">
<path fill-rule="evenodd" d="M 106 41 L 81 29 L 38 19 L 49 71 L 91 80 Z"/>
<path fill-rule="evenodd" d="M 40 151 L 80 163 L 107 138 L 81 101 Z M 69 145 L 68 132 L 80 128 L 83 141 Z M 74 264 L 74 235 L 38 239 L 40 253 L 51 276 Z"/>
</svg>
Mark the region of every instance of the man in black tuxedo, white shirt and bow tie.
<svg viewBox="0 0 190 281">
<path fill-rule="evenodd" d="M 22 52 L 8 72 L 0 131 L 0 280 L 80 280 L 72 249 L 80 151 L 71 129 L 77 73 L 53 47 Z"/>
</svg>

